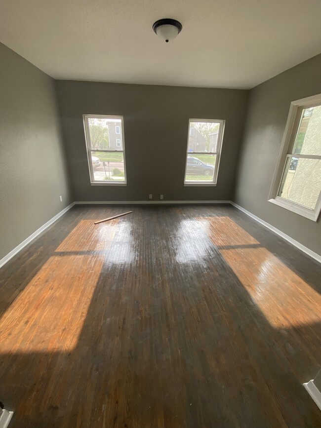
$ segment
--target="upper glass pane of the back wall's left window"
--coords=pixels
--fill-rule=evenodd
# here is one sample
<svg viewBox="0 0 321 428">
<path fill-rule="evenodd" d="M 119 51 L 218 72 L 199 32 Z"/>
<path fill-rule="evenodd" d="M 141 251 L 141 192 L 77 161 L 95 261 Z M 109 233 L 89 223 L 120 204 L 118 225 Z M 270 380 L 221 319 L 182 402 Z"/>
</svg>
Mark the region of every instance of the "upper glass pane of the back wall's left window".
<svg viewBox="0 0 321 428">
<path fill-rule="evenodd" d="M 88 117 L 88 125 L 92 150 L 123 150 L 121 119 Z"/>
</svg>

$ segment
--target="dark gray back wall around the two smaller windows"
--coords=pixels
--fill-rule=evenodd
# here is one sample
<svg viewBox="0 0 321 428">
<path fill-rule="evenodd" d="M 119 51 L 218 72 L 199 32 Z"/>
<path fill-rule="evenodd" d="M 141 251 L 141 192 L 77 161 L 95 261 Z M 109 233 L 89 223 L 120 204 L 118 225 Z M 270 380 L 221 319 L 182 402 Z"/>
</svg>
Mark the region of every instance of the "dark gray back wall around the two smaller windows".
<svg viewBox="0 0 321 428">
<path fill-rule="evenodd" d="M 75 200 L 230 199 L 248 91 L 57 81 Z M 127 186 L 91 186 L 82 115 L 124 117 Z M 226 119 L 217 187 L 184 187 L 189 118 Z"/>
</svg>

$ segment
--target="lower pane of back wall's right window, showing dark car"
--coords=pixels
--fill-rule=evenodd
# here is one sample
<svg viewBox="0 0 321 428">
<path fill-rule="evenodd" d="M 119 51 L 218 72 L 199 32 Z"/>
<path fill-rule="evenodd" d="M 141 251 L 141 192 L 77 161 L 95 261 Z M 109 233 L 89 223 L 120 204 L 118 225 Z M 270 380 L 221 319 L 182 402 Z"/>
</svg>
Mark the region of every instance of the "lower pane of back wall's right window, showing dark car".
<svg viewBox="0 0 321 428">
<path fill-rule="evenodd" d="M 215 161 L 216 155 L 188 155 L 185 181 L 212 181 Z"/>
</svg>

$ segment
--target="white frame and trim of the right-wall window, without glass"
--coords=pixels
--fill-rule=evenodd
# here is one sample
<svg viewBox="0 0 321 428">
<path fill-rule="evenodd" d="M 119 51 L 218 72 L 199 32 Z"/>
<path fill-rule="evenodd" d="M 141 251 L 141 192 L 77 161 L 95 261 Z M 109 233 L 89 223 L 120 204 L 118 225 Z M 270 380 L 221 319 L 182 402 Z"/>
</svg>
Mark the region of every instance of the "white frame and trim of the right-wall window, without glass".
<svg viewBox="0 0 321 428">
<path fill-rule="evenodd" d="M 321 211 L 321 191 L 315 209 L 311 209 L 300 205 L 299 203 L 284 199 L 281 196 L 278 196 L 278 194 L 287 157 L 291 156 L 296 158 L 321 159 L 321 156 L 317 155 L 294 155 L 291 153 L 293 151 L 295 137 L 300 124 L 302 110 L 320 105 L 321 94 L 291 102 L 290 111 L 287 117 L 284 135 L 281 143 L 281 149 L 277 161 L 277 166 L 273 175 L 272 186 L 269 193 L 269 202 L 279 205 L 282 208 L 285 208 L 315 222 L 318 220 Z"/>
</svg>

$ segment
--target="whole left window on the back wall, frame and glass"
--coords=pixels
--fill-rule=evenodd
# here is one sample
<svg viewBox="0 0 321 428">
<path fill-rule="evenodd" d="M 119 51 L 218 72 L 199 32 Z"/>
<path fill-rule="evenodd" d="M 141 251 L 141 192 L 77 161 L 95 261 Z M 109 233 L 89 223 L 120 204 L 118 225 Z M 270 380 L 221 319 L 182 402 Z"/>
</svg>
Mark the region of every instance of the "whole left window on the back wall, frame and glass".
<svg viewBox="0 0 321 428">
<path fill-rule="evenodd" d="M 91 184 L 125 185 L 123 118 L 83 115 L 83 121 Z"/>
</svg>

